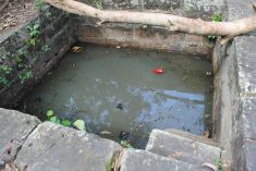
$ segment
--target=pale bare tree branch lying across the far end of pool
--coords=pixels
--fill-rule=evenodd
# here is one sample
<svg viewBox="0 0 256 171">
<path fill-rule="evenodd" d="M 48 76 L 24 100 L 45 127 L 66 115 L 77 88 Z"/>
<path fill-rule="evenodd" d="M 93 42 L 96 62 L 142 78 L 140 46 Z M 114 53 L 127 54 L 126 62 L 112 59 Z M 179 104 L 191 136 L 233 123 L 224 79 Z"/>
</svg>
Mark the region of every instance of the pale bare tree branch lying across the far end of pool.
<svg viewBox="0 0 256 171">
<path fill-rule="evenodd" d="M 99 23 L 137 23 L 157 25 L 173 32 L 194 35 L 219 35 L 234 37 L 256 30 L 256 14 L 233 22 L 205 22 L 164 13 L 98 10 L 75 0 L 44 0 L 70 13 L 96 17 Z M 255 8 L 255 4 L 253 5 Z"/>
</svg>

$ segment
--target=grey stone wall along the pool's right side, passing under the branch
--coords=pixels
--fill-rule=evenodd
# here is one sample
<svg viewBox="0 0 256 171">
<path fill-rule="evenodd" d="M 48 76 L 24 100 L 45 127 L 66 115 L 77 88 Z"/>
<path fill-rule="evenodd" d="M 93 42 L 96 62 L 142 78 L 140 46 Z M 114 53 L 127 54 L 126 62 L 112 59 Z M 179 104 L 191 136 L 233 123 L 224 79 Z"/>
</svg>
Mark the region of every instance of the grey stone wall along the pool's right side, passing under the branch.
<svg viewBox="0 0 256 171">
<path fill-rule="evenodd" d="M 228 0 L 228 20 L 254 14 L 253 0 Z M 256 34 L 237 36 L 214 52 L 216 138 L 234 171 L 256 170 Z"/>
</svg>

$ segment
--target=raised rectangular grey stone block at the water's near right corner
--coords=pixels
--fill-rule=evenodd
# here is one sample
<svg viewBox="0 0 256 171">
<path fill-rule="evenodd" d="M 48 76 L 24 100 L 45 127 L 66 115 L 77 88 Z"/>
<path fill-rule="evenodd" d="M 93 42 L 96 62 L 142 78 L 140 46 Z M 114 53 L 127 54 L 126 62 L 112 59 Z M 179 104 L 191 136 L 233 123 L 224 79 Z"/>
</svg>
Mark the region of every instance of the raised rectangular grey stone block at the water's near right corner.
<svg viewBox="0 0 256 171">
<path fill-rule="evenodd" d="M 196 166 L 214 163 L 221 157 L 221 149 L 173 133 L 154 130 L 146 150 Z"/>
</svg>

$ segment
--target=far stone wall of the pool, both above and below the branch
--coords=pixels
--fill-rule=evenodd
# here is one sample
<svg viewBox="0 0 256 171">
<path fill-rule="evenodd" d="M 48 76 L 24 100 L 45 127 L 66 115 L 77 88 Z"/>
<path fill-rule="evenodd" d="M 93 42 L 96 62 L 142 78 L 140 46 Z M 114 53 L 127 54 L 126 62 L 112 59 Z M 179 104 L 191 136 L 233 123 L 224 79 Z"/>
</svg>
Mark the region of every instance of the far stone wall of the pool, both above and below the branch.
<svg viewBox="0 0 256 171">
<path fill-rule="evenodd" d="M 164 12 L 187 17 L 210 20 L 217 12 L 223 12 L 222 0 L 82 0 L 103 9 Z M 95 4 L 97 2 L 97 4 Z M 101 45 L 156 49 L 169 52 L 194 53 L 210 57 L 212 44 L 205 36 L 169 32 L 162 27 L 139 24 L 102 24 L 97 20 L 75 16 L 78 41 Z"/>
</svg>

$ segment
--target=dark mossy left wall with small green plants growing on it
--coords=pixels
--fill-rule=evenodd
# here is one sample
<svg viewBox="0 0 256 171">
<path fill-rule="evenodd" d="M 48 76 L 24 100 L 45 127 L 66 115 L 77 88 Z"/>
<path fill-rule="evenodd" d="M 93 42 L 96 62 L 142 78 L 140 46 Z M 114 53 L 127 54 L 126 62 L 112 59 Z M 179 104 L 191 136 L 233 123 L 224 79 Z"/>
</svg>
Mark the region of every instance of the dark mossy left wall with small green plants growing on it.
<svg viewBox="0 0 256 171">
<path fill-rule="evenodd" d="M 61 59 L 74 42 L 72 28 L 64 12 L 48 8 L 0 40 L 0 107 L 13 107 Z"/>
</svg>

